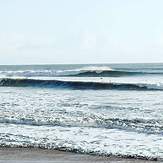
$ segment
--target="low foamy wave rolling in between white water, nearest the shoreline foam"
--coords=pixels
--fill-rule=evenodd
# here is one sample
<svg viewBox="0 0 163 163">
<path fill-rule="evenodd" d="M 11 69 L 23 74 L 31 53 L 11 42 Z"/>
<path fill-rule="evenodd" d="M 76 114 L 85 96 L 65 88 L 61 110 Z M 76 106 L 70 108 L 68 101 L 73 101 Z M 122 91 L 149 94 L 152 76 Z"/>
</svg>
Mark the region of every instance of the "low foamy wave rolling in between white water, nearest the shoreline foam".
<svg viewBox="0 0 163 163">
<path fill-rule="evenodd" d="M 163 134 L 162 122 L 154 119 L 121 119 L 121 118 L 104 118 L 104 117 L 83 117 L 81 122 L 74 117 L 73 121 L 68 120 L 69 117 L 63 119 L 40 119 L 33 118 L 0 118 L 0 123 L 19 124 L 31 126 L 61 126 L 61 127 L 93 127 L 106 129 L 120 129 L 132 132 L 146 133 L 146 134 Z"/>
</svg>

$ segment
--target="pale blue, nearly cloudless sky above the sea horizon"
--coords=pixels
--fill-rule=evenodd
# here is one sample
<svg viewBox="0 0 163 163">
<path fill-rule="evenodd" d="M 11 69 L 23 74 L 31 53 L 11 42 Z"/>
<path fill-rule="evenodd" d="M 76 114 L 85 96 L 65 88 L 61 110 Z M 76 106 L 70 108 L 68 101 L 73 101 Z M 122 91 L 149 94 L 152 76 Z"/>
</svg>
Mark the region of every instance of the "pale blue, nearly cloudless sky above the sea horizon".
<svg viewBox="0 0 163 163">
<path fill-rule="evenodd" d="M 163 62 L 162 0 L 0 0 L 0 64 Z"/>
</svg>

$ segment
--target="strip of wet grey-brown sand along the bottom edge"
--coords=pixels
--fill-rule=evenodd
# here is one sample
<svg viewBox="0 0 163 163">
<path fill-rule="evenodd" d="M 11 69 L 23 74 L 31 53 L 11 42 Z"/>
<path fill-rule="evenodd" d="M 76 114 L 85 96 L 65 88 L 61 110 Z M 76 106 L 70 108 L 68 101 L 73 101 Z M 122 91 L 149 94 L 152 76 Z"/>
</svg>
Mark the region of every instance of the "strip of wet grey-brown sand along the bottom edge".
<svg viewBox="0 0 163 163">
<path fill-rule="evenodd" d="M 0 163 L 54 162 L 54 163 L 152 163 L 156 161 L 92 156 L 36 148 L 0 148 Z M 158 161 L 159 162 L 159 161 Z"/>
</svg>

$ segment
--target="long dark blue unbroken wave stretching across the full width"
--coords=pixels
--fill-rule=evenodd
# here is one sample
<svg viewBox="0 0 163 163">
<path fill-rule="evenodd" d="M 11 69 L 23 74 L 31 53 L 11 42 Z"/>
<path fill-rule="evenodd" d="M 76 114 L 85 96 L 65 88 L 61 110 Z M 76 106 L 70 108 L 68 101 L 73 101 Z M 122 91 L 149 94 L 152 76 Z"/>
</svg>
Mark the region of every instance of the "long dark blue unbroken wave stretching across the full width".
<svg viewBox="0 0 163 163">
<path fill-rule="evenodd" d="M 27 78 L 2 78 L 0 86 L 8 87 L 48 87 L 69 89 L 92 89 L 92 90 L 163 90 L 163 86 L 143 83 L 112 83 L 93 81 L 64 81 L 64 80 L 41 80 Z"/>
</svg>

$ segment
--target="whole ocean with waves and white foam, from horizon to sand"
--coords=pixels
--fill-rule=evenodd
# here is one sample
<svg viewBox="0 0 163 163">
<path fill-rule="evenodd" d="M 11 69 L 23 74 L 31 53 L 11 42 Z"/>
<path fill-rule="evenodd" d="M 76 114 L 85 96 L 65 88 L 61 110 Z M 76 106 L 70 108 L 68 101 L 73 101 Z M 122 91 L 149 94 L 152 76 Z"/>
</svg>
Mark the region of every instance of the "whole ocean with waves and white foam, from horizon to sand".
<svg viewBox="0 0 163 163">
<path fill-rule="evenodd" d="M 0 147 L 163 159 L 163 64 L 0 66 Z"/>
</svg>

